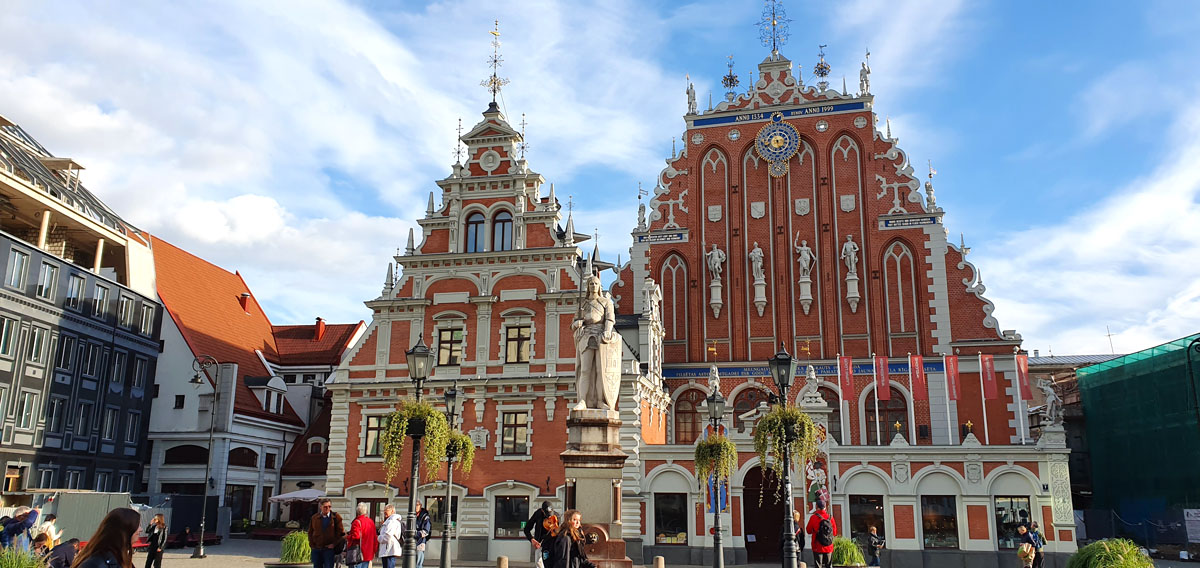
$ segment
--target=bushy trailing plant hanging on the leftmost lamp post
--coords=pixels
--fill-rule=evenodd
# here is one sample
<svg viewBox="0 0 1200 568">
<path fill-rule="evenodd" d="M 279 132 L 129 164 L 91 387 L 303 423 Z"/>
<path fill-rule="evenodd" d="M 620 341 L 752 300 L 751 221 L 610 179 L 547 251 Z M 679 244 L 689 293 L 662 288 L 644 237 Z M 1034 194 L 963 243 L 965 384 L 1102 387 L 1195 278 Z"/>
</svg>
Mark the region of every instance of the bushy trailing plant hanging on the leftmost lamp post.
<svg viewBox="0 0 1200 568">
<path fill-rule="evenodd" d="M 388 414 L 388 425 L 379 436 L 380 454 L 383 454 L 384 483 L 391 480 L 400 473 L 401 456 L 404 453 L 404 440 L 408 426 L 413 421 L 425 424 L 425 436 L 421 440 L 421 461 L 425 462 L 425 478 L 433 480 L 437 478 L 438 467 L 446 456 L 446 443 L 450 442 L 450 423 L 445 414 L 439 412 L 428 402 L 415 400 L 401 401 L 400 408 Z M 414 479 L 415 484 L 416 480 Z"/>
</svg>

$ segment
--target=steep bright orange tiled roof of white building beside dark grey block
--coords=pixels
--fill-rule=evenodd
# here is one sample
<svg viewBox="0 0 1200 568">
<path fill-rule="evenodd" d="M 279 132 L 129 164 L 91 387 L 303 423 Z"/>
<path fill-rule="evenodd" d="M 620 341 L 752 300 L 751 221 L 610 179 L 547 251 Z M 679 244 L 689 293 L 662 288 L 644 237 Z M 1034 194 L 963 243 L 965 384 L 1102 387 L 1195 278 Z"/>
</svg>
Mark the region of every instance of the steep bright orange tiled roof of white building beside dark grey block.
<svg viewBox="0 0 1200 568">
<path fill-rule="evenodd" d="M 192 353 L 238 364 L 234 411 L 302 426 L 304 421 L 287 401 L 283 414 L 270 413 L 246 385 L 246 376 L 270 375 L 254 351 L 262 351 L 269 360 L 277 360 L 278 351 L 271 322 L 241 275 L 158 238 L 151 238 L 151 249 L 158 297 Z M 250 294 L 245 309 L 239 301 L 241 294 Z"/>
</svg>

